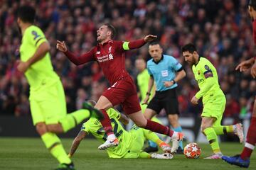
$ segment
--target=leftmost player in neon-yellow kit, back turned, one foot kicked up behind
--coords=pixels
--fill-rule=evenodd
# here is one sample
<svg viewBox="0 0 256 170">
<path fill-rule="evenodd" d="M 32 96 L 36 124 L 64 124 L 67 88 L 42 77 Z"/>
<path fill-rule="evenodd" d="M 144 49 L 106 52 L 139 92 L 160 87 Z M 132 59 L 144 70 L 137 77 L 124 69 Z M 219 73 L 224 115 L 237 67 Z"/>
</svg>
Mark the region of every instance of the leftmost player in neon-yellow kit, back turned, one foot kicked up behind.
<svg viewBox="0 0 256 170">
<path fill-rule="evenodd" d="M 50 154 L 60 163 L 58 170 L 75 169 L 56 134 L 74 128 L 91 113 L 97 118 L 102 115 L 87 103 L 84 103 L 85 109 L 67 114 L 63 86 L 50 61 L 50 45 L 42 30 L 33 25 L 35 16 L 36 11 L 31 6 L 18 9 L 17 23 L 22 42 L 19 49 L 21 62 L 17 69 L 25 74 L 30 85 L 33 125 Z"/>
</svg>

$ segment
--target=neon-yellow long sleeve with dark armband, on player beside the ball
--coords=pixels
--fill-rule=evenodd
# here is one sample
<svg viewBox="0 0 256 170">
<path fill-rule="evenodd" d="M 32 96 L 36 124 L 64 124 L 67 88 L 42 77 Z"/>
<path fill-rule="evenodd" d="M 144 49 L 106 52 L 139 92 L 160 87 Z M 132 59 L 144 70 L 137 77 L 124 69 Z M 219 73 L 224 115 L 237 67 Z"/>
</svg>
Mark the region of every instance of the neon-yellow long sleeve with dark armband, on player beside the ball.
<svg viewBox="0 0 256 170">
<path fill-rule="evenodd" d="M 208 60 L 206 62 L 203 62 L 201 64 L 201 72 L 203 72 L 203 77 L 205 78 L 205 81 L 203 82 L 200 91 L 196 93 L 196 98 L 201 98 L 204 96 L 210 88 L 214 85 L 213 81 L 213 64 L 211 64 Z"/>
</svg>

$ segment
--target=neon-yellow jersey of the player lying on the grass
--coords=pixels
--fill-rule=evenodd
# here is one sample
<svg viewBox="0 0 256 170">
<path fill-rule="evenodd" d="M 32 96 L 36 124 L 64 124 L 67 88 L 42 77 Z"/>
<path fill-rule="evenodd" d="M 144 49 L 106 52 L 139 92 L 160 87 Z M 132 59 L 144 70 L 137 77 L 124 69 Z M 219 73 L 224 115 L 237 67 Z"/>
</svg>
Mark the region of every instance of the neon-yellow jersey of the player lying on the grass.
<svg viewBox="0 0 256 170">
<path fill-rule="evenodd" d="M 114 108 L 107 110 L 107 114 L 110 116 L 111 125 L 113 128 L 114 135 L 119 140 L 119 145 L 117 147 L 107 148 L 107 154 L 112 158 L 122 158 L 129 151 L 132 144 L 132 134 L 124 130 L 122 125 L 119 123 L 120 113 L 118 113 Z M 96 118 L 90 118 L 86 123 L 82 125 L 81 130 L 91 133 L 100 142 L 105 142 L 107 140 L 107 134 L 102 127 L 102 124 Z M 144 136 L 142 136 L 144 137 Z"/>
</svg>

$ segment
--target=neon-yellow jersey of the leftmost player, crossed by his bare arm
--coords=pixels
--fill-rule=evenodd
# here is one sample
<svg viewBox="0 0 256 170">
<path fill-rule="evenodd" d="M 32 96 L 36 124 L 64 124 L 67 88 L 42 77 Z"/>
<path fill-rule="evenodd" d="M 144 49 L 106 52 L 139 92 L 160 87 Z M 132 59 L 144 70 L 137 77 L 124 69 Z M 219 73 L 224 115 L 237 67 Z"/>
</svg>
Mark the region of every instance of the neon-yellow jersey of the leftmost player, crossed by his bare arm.
<svg viewBox="0 0 256 170">
<path fill-rule="evenodd" d="M 26 62 L 29 58 L 33 57 L 43 42 L 47 42 L 47 40 L 40 28 L 37 26 L 26 28 L 20 47 L 21 61 Z M 46 82 L 50 85 L 59 80 L 58 75 L 53 71 L 49 52 L 41 60 L 33 63 L 25 72 L 25 76 L 32 91 L 40 89 Z"/>
</svg>

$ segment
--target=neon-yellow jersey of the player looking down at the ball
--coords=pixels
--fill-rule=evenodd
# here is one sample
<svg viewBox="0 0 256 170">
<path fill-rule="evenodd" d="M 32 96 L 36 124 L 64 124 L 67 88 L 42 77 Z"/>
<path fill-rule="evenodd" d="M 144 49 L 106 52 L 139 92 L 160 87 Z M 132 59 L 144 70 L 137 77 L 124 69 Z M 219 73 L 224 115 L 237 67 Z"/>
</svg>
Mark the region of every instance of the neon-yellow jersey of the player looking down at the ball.
<svg viewBox="0 0 256 170">
<path fill-rule="evenodd" d="M 206 103 L 212 94 L 224 95 L 218 84 L 217 71 L 209 60 L 199 57 L 198 64 L 193 65 L 192 70 L 200 89 L 196 93 L 196 98 L 203 97 L 203 103 Z"/>
</svg>

